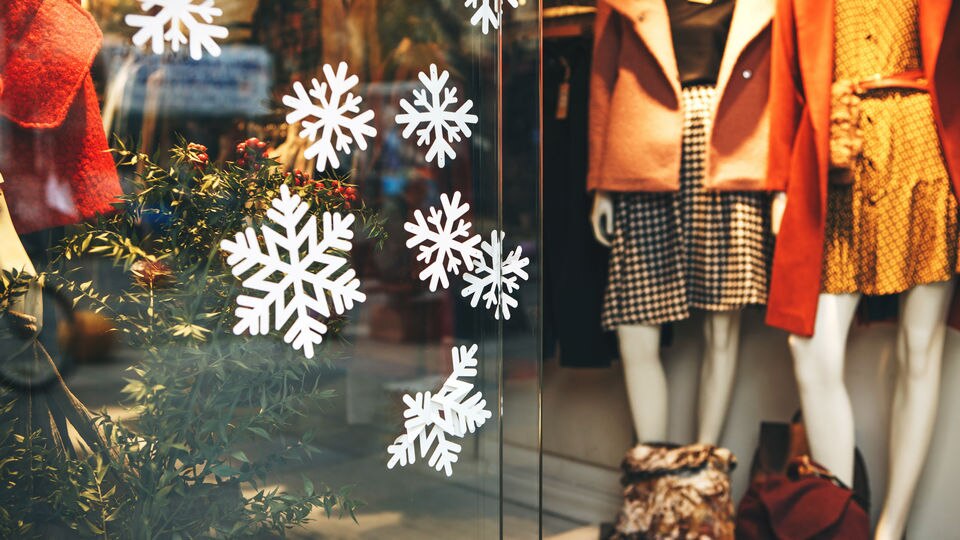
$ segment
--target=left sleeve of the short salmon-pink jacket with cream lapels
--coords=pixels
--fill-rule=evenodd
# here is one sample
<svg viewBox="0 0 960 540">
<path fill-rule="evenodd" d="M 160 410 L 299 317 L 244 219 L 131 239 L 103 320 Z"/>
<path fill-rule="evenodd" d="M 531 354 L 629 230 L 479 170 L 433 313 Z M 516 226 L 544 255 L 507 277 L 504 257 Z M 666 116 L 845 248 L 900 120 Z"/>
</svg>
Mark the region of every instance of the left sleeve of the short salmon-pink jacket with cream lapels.
<svg viewBox="0 0 960 540">
<path fill-rule="evenodd" d="M 594 27 L 593 63 L 590 74 L 589 168 L 587 189 L 597 189 L 602 181 L 603 159 L 607 147 L 610 101 L 617 82 L 620 57 L 620 21 L 610 5 L 597 2 Z"/>
</svg>

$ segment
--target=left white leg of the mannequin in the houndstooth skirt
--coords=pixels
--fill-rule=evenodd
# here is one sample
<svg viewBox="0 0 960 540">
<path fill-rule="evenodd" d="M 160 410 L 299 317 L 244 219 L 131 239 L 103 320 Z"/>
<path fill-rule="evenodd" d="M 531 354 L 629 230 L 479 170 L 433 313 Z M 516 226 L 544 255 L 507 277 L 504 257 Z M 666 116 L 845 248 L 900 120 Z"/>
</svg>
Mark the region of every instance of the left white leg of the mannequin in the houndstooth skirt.
<svg viewBox="0 0 960 540">
<path fill-rule="evenodd" d="M 640 442 L 667 438 L 667 377 L 660 363 L 660 327 L 617 329 L 633 427 Z"/>
</svg>

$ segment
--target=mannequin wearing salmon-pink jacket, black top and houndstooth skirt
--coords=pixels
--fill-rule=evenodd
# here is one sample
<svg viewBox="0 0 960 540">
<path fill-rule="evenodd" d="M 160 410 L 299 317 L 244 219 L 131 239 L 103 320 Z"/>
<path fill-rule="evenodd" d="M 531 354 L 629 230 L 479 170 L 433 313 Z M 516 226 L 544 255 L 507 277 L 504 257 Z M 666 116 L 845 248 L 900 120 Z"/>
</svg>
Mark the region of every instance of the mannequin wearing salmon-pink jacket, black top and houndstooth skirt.
<svg viewBox="0 0 960 540">
<path fill-rule="evenodd" d="M 662 325 L 687 318 L 691 309 L 706 314 L 696 442 L 715 445 L 735 383 L 742 309 L 766 299 L 770 36 L 764 30 L 772 15 L 767 0 L 598 4 L 590 220 L 596 240 L 612 248 L 604 327 L 617 334 L 641 443 L 667 438 Z M 648 66 L 651 56 L 655 64 Z M 709 88 L 709 97 L 697 88 Z M 723 99 L 728 93 L 737 99 Z M 680 207 L 664 210 L 669 197 Z M 677 295 L 683 299 L 675 301 Z"/>
</svg>

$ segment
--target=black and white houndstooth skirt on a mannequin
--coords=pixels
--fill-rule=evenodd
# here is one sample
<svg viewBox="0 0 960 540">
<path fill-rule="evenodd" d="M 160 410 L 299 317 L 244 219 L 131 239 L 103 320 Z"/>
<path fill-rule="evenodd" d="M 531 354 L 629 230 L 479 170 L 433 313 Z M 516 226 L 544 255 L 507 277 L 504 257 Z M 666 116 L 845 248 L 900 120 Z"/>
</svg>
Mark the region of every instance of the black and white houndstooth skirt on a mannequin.
<svg viewBox="0 0 960 540">
<path fill-rule="evenodd" d="M 770 197 L 703 188 L 712 86 L 683 89 L 680 190 L 620 193 L 603 327 L 686 319 L 691 309 L 764 304 L 773 253 Z"/>
</svg>

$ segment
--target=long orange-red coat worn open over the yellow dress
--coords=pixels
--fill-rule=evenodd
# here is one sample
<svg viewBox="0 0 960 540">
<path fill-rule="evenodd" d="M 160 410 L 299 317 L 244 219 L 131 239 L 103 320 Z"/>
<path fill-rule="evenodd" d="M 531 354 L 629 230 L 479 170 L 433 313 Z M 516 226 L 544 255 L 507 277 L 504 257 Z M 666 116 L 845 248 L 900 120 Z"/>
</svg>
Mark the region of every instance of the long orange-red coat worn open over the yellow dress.
<svg viewBox="0 0 960 540">
<path fill-rule="evenodd" d="M 919 2 L 924 72 L 933 82 L 940 138 L 954 193 L 960 193 L 960 2 Z M 787 207 L 774 254 L 767 323 L 801 336 L 813 334 L 821 290 L 833 17 L 832 0 L 778 0 L 773 25 L 768 185 L 786 191 Z M 954 302 L 951 324 L 960 328 L 960 302 Z"/>
</svg>

